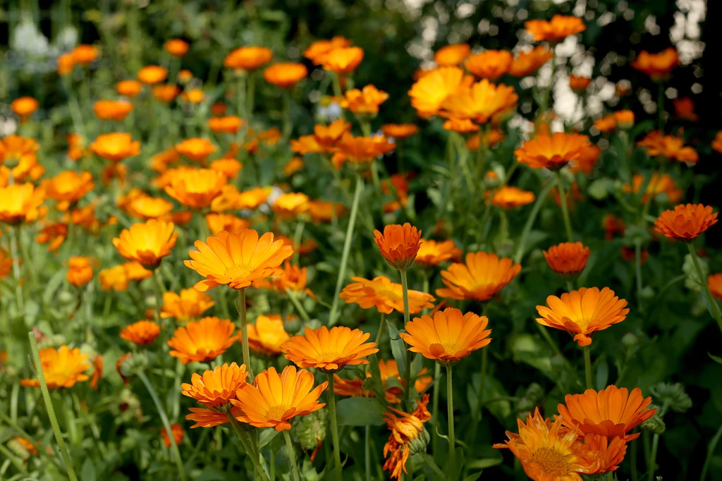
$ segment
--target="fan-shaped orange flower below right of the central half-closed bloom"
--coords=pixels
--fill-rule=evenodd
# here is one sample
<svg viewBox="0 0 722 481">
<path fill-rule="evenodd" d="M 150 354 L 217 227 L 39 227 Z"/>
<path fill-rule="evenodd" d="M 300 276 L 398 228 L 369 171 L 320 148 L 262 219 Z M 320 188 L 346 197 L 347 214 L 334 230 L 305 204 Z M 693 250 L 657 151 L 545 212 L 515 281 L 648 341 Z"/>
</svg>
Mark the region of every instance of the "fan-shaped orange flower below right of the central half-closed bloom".
<svg viewBox="0 0 722 481">
<path fill-rule="evenodd" d="M 486 316 L 470 312 L 462 315 L 458 309 L 445 308 L 433 317 L 414 318 L 406 324 L 406 333 L 399 336 L 411 346 L 411 352 L 450 366 L 491 342 L 488 324 Z"/>
</svg>

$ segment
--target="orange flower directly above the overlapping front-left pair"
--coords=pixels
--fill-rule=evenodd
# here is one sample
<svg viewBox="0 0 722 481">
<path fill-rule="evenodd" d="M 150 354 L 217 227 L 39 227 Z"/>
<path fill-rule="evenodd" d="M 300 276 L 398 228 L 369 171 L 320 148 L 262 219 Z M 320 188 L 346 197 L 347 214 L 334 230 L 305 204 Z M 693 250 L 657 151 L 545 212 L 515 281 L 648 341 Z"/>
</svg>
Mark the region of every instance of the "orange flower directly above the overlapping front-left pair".
<svg viewBox="0 0 722 481">
<path fill-rule="evenodd" d="M 235 324 L 228 319 L 204 317 L 200 321 L 188 322 L 175 329 L 168 341 L 170 354 L 183 364 L 207 363 L 222 355 L 238 336 L 234 336 Z"/>
</svg>

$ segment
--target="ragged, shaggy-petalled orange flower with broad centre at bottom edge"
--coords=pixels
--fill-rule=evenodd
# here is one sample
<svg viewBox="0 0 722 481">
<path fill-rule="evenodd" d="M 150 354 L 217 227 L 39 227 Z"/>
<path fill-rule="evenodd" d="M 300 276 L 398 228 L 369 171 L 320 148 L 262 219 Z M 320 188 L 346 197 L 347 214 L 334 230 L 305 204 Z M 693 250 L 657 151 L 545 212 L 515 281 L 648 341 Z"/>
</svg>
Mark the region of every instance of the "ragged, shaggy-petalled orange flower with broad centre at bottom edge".
<svg viewBox="0 0 722 481">
<path fill-rule="evenodd" d="M 534 408 L 526 423 L 516 420 L 519 433 L 506 432 L 509 441 L 495 444 L 496 449 L 509 449 L 534 481 L 581 481 L 580 474 L 593 472 L 596 462 L 588 459 L 577 430 L 566 430 L 562 420 L 552 423 Z"/>
</svg>

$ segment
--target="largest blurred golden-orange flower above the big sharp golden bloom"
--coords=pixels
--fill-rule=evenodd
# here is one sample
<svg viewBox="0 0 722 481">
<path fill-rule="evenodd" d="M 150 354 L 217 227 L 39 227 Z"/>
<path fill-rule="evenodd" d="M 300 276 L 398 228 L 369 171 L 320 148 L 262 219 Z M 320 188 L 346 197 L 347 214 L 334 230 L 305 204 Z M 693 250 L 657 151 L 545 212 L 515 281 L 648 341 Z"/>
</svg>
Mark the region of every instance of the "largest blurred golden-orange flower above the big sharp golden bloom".
<svg viewBox="0 0 722 481">
<path fill-rule="evenodd" d="M 203 209 L 221 194 L 226 183 L 226 176 L 216 170 L 183 169 L 173 173 L 165 193 L 186 207 Z"/>
</svg>

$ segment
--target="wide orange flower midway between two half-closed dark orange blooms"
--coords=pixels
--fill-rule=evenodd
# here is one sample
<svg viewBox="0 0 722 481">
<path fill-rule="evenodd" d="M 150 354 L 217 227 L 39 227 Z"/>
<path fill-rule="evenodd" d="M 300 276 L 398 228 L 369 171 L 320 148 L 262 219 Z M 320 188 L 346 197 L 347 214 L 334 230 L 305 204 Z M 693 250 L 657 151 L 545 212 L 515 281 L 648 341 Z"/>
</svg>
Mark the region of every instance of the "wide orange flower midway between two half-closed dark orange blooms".
<svg viewBox="0 0 722 481">
<path fill-rule="evenodd" d="M 436 295 L 450 299 L 490 300 L 521 271 L 521 264 L 511 259 L 486 252 L 469 252 L 466 264 L 454 263 L 441 271 L 446 288 L 437 289 Z"/>
</svg>

